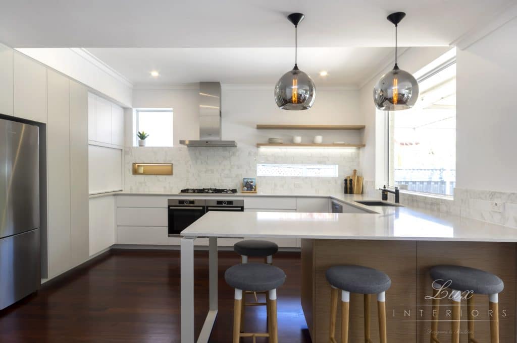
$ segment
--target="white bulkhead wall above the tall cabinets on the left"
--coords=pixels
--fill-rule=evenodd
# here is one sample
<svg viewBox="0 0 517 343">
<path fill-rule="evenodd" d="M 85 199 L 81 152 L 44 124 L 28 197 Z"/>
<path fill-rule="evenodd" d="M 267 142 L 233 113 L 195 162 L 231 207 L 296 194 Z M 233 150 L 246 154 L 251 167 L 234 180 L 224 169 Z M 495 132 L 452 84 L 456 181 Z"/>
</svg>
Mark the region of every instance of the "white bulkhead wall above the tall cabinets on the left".
<svg viewBox="0 0 517 343">
<path fill-rule="evenodd" d="M 133 85 L 77 48 L 20 48 L 19 52 L 78 80 L 123 107 L 131 107 Z"/>
</svg>

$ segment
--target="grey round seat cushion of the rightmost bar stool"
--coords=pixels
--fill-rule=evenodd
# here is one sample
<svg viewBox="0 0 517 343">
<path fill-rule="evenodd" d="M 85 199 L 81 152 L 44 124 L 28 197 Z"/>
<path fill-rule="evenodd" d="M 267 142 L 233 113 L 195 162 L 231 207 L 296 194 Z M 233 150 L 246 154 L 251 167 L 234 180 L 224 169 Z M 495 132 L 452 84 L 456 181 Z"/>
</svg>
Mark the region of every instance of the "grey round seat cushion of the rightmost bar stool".
<svg viewBox="0 0 517 343">
<path fill-rule="evenodd" d="M 449 288 L 460 291 L 472 290 L 477 294 L 491 295 L 500 293 L 505 288 L 503 280 L 497 275 L 470 267 L 435 266 L 431 268 L 430 274 L 438 285 L 448 285 Z"/>
</svg>

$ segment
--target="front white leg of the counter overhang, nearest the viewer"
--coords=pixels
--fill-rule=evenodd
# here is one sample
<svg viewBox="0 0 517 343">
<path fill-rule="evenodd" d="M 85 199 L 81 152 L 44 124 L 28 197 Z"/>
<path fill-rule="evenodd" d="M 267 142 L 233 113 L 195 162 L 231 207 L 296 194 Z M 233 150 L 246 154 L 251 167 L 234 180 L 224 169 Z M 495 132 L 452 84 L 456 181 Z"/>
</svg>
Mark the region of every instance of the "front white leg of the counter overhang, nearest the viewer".
<svg viewBox="0 0 517 343">
<path fill-rule="evenodd" d="M 181 343 L 194 343 L 194 240 L 181 238 Z"/>
</svg>

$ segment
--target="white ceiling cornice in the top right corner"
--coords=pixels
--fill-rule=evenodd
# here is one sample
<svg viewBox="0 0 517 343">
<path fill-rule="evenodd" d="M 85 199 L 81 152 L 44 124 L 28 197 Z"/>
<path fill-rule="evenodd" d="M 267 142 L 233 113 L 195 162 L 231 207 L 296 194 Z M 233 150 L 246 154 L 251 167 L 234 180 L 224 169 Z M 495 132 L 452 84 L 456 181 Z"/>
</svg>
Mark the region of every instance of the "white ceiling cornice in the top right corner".
<svg viewBox="0 0 517 343">
<path fill-rule="evenodd" d="M 517 3 L 511 2 L 507 8 L 501 10 L 489 20 L 486 20 L 485 23 L 480 23 L 476 27 L 467 31 L 466 34 L 451 42 L 450 45 L 457 46 L 461 50 L 465 50 L 470 45 L 488 36 L 493 31 L 514 18 L 517 18 Z"/>
</svg>

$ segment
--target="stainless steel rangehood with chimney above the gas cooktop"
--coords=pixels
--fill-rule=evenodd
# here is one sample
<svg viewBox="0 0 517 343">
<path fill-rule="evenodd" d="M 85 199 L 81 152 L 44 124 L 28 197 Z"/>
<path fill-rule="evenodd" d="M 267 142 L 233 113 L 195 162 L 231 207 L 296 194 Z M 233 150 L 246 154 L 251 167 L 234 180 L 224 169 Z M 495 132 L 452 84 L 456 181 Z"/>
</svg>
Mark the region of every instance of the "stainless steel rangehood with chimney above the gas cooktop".
<svg viewBox="0 0 517 343">
<path fill-rule="evenodd" d="M 235 147 L 234 140 L 221 140 L 221 84 L 199 83 L 199 140 L 180 140 L 189 148 Z"/>
</svg>

